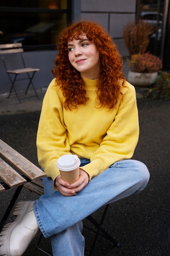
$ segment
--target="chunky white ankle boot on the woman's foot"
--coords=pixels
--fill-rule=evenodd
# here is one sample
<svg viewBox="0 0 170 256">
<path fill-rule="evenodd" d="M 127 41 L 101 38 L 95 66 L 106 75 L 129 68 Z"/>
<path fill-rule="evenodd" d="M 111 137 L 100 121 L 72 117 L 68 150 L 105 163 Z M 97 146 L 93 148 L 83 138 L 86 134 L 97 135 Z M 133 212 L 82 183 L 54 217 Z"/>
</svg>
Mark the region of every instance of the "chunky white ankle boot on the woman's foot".
<svg viewBox="0 0 170 256">
<path fill-rule="evenodd" d="M 33 202 L 20 201 L 13 212 L 14 222 L 4 225 L 0 233 L 0 255 L 21 256 L 39 227 L 33 210 Z"/>
</svg>

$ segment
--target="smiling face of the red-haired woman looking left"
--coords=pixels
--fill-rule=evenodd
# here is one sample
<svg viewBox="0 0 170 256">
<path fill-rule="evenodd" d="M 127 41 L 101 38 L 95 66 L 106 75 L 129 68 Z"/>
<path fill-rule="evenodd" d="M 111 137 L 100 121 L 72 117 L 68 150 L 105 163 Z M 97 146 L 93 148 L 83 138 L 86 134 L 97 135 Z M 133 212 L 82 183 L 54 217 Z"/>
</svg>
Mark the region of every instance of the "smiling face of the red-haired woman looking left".
<svg viewBox="0 0 170 256">
<path fill-rule="evenodd" d="M 87 79 L 98 79 L 100 72 L 99 51 L 86 35 L 68 41 L 68 58 L 72 66 Z"/>
</svg>

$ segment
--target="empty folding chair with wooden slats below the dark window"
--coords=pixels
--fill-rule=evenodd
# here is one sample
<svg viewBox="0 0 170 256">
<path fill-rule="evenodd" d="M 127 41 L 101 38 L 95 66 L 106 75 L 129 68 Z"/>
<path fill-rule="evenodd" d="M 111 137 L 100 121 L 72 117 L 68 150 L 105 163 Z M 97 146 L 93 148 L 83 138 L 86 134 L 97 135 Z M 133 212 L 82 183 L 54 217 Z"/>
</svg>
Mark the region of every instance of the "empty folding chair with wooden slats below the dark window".
<svg viewBox="0 0 170 256">
<path fill-rule="evenodd" d="M 33 77 L 34 77 L 35 73 L 37 71 L 39 71 L 39 68 L 26 67 L 25 62 L 24 62 L 24 56 L 22 54 L 23 52 L 24 52 L 24 50 L 22 48 L 22 43 L 12 43 L 12 44 L 0 45 L 0 54 L 2 56 L 2 61 L 3 61 L 3 64 L 4 64 L 5 70 L 8 74 L 8 76 L 9 76 L 9 80 L 11 81 L 11 89 L 9 91 L 9 96 L 7 98 L 9 98 L 11 96 L 11 92 L 12 92 L 12 90 L 14 90 L 19 103 L 20 103 L 20 98 L 19 98 L 17 90 L 15 88 L 15 83 L 16 83 L 16 81 L 19 81 L 19 80 L 25 80 L 25 79 L 29 80 L 28 85 L 26 87 L 25 94 L 28 92 L 28 89 L 29 89 L 30 85 L 32 85 L 33 90 L 35 92 L 35 95 L 39 99 L 39 97 L 37 95 L 37 92 L 35 90 L 35 87 L 33 85 L 33 82 L 32 82 Z M 8 69 L 9 63 L 7 64 L 7 60 L 4 57 L 4 55 L 6 55 L 6 54 L 13 54 L 13 55 L 14 54 L 20 54 L 20 58 L 22 59 L 22 61 L 21 61 L 22 67 L 20 67 L 19 69 L 14 69 L 14 70 Z M 15 60 L 16 59 L 17 58 L 15 58 Z M 20 65 L 20 64 L 17 63 L 17 65 Z M 26 74 L 26 77 L 24 77 L 24 78 L 22 77 L 21 79 L 17 79 L 17 77 L 20 74 L 24 74 L 24 73 Z"/>
</svg>

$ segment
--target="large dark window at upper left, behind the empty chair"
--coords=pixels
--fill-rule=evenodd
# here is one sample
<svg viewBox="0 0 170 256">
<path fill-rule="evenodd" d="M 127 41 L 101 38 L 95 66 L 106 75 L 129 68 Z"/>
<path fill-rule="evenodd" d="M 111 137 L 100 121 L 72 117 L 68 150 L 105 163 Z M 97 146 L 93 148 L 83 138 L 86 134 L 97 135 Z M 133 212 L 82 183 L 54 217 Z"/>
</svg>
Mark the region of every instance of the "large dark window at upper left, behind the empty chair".
<svg viewBox="0 0 170 256">
<path fill-rule="evenodd" d="M 54 49 L 56 36 L 71 21 L 70 0 L 2 0 L 0 43 L 25 50 Z"/>
</svg>

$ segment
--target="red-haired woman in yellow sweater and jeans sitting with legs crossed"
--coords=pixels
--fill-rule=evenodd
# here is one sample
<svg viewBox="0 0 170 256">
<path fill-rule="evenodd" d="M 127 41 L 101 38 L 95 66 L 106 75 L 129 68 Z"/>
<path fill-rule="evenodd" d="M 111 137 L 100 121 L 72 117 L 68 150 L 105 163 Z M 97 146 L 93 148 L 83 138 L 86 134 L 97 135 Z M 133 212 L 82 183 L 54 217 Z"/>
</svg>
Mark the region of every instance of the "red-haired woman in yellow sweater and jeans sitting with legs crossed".
<svg viewBox="0 0 170 256">
<path fill-rule="evenodd" d="M 84 255 L 82 222 L 96 209 L 142 191 L 147 167 L 131 160 L 139 137 L 134 87 L 125 81 L 112 38 L 81 21 L 59 37 L 37 132 L 45 195 L 20 202 L 15 222 L 2 231 L 0 255 L 22 255 L 38 229 L 51 238 L 54 256 Z M 79 180 L 61 179 L 57 159 L 81 159 Z"/>
</svg>

